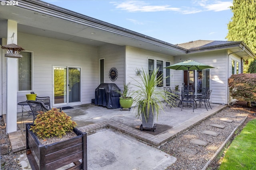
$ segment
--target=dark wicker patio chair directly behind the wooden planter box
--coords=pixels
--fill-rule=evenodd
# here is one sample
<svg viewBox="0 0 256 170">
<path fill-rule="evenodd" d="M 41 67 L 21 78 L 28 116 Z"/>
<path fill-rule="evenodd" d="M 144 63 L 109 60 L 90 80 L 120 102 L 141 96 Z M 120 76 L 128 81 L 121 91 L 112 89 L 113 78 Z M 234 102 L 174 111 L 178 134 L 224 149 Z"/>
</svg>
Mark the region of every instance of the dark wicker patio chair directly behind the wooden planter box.
<svg viewBox="0 0 256 170">
<path fill-rule="evenodd" d="M 28 103 L 28 106 L 30 107 L 32 114 L 33 114 L 33 123 L 34 120 L 36 119 L 36 116 L 39 114 L 39 111 L 42 112 L 46 112 L 48 110 L 51 110 L 49 108 L 47 108 L 43 102 L 41 101 L 36 101 L 36 100 L 26 100 L 26 102 Z M 62 107 L 57 107 L 58 109 L 60 109 L 60 111 L 62 111 Z"/>
</svg>

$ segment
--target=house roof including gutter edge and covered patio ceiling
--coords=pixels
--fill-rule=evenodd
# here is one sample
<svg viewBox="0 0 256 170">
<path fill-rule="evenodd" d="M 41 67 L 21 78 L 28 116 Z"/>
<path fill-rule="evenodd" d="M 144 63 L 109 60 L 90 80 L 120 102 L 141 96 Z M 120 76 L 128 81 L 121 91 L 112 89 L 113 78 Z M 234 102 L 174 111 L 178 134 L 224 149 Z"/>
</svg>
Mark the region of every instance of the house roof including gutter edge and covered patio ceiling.
<svg viewBox="0 0 256 170">
<path fill-rule="evenodd" d="M 18 3 L 18 6 L 0 6 L 0 38 L 7 36 L 6 20 L 14 20 L 18 32 L 93 46 L 128 45 L 172 56 L 220 49 L 234 52 L 245 45 L 236 41 L 203 40 L 173 45 L 40 0 L 18 0 Z M 247 46 L 245 52 L 241 53 L 244 57 L 255 56 Z"/>
</svg>

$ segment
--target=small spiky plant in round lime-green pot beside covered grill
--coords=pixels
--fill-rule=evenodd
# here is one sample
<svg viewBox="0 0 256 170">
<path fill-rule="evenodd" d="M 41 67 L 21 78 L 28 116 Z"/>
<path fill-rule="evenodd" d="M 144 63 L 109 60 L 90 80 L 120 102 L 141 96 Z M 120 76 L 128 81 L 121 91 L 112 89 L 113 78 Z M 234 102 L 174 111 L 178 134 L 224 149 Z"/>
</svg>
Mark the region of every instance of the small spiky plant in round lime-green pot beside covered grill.
<svg viewBox="0 0 256 170">
<path fill-rule="evenodd" d="M 116 90 L 116 92 L 118 94 L 120 94 L 120 98 L 119 98 L 119 103 L 121 106 L 121 111 L 123 109 L 131 109 L 132 107 L 132 103 L 133 103 L 133 99 L 132 97 L 130 97 L 130 82 L 128 82 L 127 84 L 124 83 L 124 90 Z"/>
</svg>

